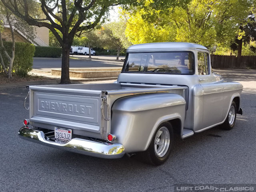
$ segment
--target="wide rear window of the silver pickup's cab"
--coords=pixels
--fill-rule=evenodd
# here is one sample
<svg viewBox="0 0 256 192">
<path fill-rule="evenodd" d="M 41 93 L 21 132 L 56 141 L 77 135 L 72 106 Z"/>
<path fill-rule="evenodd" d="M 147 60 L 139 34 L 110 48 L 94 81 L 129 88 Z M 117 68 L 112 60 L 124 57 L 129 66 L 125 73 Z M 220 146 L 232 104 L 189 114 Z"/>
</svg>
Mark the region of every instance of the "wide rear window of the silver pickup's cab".
<svg viewBox="0 0 256 192">
<path fill-rule="evenodd" d="M 194 74 L 193 52 L 143 52 L 128 53 L 122 72 Z"/>
</svg>

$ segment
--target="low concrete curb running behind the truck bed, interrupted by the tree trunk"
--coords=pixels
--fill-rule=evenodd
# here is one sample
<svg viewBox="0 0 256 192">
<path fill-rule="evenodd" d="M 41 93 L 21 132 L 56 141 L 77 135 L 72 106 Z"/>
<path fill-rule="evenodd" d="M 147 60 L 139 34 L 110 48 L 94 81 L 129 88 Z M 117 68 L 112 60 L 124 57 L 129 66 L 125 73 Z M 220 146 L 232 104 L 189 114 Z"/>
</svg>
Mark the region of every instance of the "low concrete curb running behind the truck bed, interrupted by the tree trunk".
<svg viewBox="0 0 256 192">
<path fill-rule="evenodd" d="M 89 81 L 104 81 L 104 80 L 116 80 L 117 77 L 110 77 L 110 78 L 92 78 L 92 79 L 71 79 L 71 84 L 77 84 L 80 82 L 89 82 Z M 10 84 L 2 84 L 0 85 L 1 89 L 9 89 L 9 88 L 18 88 L 18 87 L 25 87 L 27 85 L 53 85 L 59 84 L 60 79 L 56 80 L 45 80 L 45 81 L 27 81 L 27 82 L 20 82 L 20 83 L 10 83 Z"/>
</svg>

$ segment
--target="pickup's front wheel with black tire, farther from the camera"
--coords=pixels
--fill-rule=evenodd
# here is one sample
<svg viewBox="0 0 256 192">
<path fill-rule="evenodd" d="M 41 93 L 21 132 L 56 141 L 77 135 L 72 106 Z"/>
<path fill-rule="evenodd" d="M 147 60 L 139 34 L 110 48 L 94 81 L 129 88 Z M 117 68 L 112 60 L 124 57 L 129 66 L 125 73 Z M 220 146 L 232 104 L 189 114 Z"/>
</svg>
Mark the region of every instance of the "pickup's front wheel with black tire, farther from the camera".
<svg viewBox="0 0 256 192">
<path fill-rule="evenodd" d="M 228 116 L 223 124 L 220 125 L 220 128 L 224 130 L 231 130 L 236 122 L 236 103 L 232 101 L 231 106 L 228 110 Z"/>
</svg>

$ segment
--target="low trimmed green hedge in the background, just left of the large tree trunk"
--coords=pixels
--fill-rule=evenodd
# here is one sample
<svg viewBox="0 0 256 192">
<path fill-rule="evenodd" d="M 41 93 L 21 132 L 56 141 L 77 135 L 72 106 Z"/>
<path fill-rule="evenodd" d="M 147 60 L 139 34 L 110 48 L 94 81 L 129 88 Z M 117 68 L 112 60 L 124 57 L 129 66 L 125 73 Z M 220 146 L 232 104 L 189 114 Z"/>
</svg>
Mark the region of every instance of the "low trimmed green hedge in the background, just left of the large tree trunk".
<svg viewBox="0 0 256 192">
<path fill-rule="evenodd" d="M 62 50 L 60 47 L 42 47 L 36 46 L 34 57 L 60 57 Z"/>
</svg>

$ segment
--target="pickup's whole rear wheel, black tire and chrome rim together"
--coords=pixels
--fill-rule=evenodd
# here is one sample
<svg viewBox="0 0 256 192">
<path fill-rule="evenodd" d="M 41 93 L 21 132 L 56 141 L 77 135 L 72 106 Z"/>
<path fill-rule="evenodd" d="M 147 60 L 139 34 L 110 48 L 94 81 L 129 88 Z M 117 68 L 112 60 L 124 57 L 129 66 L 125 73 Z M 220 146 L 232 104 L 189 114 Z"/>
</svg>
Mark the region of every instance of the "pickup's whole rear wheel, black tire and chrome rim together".
<svg viewBox="0 0 256 192">
<path fill-rule="evenodd" d="M 170 156 L 173 145 L 173 129 L 169 122 L 158 126 L 148 149 L 142 152 L 142 158 L 153 165 L 163 164 Z"/>
</svg>

